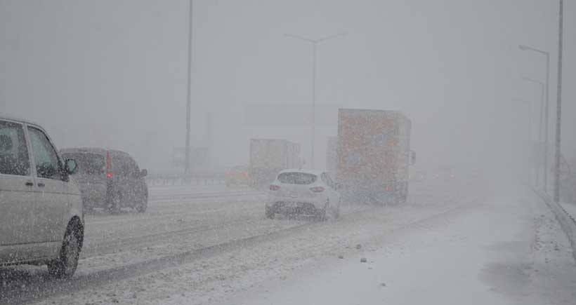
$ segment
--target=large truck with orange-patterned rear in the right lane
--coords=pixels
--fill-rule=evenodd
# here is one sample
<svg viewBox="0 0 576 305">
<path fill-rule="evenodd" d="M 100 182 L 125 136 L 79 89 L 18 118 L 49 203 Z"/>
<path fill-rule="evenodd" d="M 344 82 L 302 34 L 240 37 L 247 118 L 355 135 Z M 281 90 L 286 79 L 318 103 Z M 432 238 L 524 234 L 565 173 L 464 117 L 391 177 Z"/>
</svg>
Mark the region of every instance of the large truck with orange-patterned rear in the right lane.
<svg viewBox="0 0 576 305">
<path fill-rule="evenodd" d="M 339 109 L 336 179 L 348 202 L 399 203 L 408 195 L 410 120 L 398 111 Z"/>
</svg>

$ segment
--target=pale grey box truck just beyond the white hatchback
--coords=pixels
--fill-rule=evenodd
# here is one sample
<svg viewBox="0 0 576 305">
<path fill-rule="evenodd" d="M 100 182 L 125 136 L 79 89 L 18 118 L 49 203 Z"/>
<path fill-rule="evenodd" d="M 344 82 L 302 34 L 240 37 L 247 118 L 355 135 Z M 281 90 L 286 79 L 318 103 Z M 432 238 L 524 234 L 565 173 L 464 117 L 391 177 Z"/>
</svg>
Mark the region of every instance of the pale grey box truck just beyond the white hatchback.
<svg viewBox="0 0 576 305">
<path fill-rule="evenodd" d="M 250 140 L 251 187 L 264 190 L 280 170 L 300 166 L 300 144 L 277 139 Z"/>
</svg>

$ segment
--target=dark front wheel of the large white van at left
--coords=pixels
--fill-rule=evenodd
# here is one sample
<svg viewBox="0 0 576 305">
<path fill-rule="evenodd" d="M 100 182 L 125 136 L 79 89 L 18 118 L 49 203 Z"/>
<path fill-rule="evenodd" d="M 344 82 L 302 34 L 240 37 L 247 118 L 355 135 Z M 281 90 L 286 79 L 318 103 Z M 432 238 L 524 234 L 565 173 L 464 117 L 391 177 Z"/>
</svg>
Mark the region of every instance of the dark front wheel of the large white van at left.
<svg viewBox="0 0 576 305">
<path fill-rule="evenodd" d="M 55 278 L 71 278 L 78 266 L 81 250 L 81 226 L 74 222 L 68 226 L 58 259 L 48 263 L 48 273 Z"/>
</svg>

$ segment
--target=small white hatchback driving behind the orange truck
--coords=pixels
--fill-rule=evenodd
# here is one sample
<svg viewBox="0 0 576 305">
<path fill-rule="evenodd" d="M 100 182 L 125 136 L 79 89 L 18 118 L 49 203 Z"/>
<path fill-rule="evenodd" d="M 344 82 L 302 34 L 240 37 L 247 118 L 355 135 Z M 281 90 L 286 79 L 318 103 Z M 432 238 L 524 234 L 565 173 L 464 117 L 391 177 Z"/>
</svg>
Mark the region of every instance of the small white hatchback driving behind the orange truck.
<svg viewBox="0 0 576 305">
<path fill-rule="evenodd" d="M 314 215 L 325 220 L 340 215 L 340 193 L 327 172 L 320 170 L 282 170 L 270 184 L 266 217 L 276 213 Z"/>
</svg>

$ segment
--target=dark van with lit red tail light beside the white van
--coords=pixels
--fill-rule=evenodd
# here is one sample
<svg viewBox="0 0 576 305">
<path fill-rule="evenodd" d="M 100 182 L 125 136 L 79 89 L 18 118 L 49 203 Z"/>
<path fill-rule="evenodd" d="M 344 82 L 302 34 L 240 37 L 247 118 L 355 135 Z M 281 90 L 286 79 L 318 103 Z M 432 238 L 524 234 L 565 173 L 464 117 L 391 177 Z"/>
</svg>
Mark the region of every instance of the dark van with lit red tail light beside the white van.
<svg viewBox="0 0 576 305">
<path fill-rule="evenodd" d="M 148 185 L 134 159 L 124 151 L 103 148 L 67 148 L 60 151 L 65 158 L 74 158 L 84 208 L 105 208 L 117 213 L 121 208 L 145 212 L 148 208 Z"/>
</svg>

